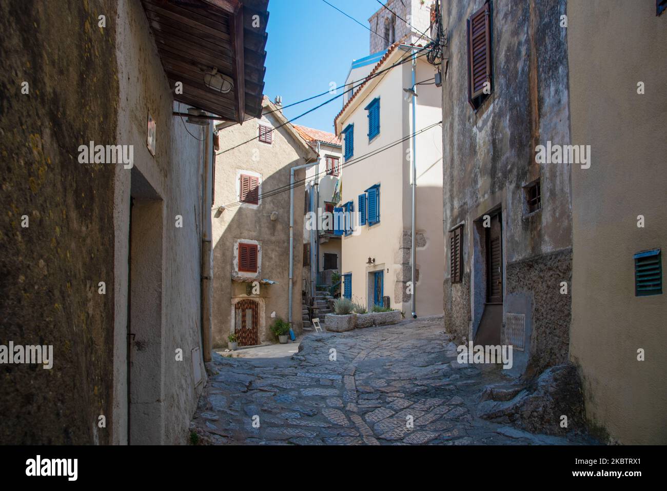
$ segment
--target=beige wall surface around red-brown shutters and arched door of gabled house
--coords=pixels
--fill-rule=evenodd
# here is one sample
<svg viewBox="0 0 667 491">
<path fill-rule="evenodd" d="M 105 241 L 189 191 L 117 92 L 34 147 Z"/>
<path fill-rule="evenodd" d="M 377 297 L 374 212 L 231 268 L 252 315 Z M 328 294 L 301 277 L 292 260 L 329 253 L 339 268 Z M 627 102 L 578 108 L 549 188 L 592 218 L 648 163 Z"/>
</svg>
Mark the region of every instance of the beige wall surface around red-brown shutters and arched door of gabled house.
<svg viewBox="0 0 667 491">
<path fill-rule="evenodd" d="M 272 109 L 265 107 L 264 112 Z M 277 115 L 263 116 L 263 125 L 278 127 Z M 269 326 L 271 313 L 288 318 L 289 298 L 289 173 L 290 167 L 315 159 L 315 151 L 307 150 L 304 141 L 297 141 L 286 127 L 273 130 L 271 144 L 257 138 L 259 119 L 248 119 L 243 125 L 219 131 L 220 149 L 224 151 L 255 137 L 231 151 L 220 153 L 215 161 L 215 213 L 213 214 L 213 346 L 227 345 L 227 336 L 234 320 L 232 298 L 260 301 L 259 342 L 272 341 Z M 237 188 L 239 174 L 256 173 L 260 179 L 259 205 L 239 205 Z M 293 300 L 292 321 L 295 332 L 301 332 L 301 288 L 303 286 L 303 207 L 305 171 L 295 171 L 293 227 Z M 277 191 L 273 193 L 272 191 Z M 265 196 L 263 196 L 265 194 Z M 218 210 L 218 206 L 225 209 Z M 277 218 L 271 220 L 271 213 Z M 257 241 L 261 252 L 258 279 L 277 282 L 261 285 L 259 295 L 245 293 L 245 284 L 232 282 L 235 274 L 234 250 L 239 239 Z"/>
</svg>

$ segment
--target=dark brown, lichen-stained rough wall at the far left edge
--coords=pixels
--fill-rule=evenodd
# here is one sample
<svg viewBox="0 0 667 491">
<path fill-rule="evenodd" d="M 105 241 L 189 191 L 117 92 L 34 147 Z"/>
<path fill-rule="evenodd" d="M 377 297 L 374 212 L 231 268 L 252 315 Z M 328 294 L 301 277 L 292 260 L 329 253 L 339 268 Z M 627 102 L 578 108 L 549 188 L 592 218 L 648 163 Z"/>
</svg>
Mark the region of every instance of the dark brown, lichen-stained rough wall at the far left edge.
<svg viewBox="0 0 667 491">
<path fill-rule="evenodd" d="M 2 365 L 0 442 L 106 444 L 111 415 L 116 2 L 0 1 L 0 344 L 53 345 L 53 368 Z M 21 82 L 29 94 L 21 94 Z M 21 227 L 21 216 L 29 227 Z M 106 282 L 106 295 L 97 293 Z"/>
</svg>

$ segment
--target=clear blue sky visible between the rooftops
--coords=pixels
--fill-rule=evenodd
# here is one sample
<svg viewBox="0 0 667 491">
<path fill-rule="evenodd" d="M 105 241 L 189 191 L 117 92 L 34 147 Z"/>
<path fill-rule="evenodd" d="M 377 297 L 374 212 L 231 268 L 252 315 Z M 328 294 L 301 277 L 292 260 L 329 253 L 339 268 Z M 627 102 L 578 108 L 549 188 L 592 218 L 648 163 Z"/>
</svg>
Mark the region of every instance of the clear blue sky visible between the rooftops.
<svg viewBox="0 0 667 491">
<path fill-rule="evenodd" d="M 382 8 L 376 0 L 327 1 L 364 25 Z M 370 54 L 370 31 L 322 0 L 269 0 L 267 32 L 264 93 L 271 100 L 281 95 L 283 105 L 327 91 L 332 81 L 340 87 L 352 60 Z M 331 97 L 327 94 L 288 107 L 285 115 L 291 119 Z M 333 133 L 333 117 L 340 111 L 342 99 L 294 123 Z"/>
</svg>

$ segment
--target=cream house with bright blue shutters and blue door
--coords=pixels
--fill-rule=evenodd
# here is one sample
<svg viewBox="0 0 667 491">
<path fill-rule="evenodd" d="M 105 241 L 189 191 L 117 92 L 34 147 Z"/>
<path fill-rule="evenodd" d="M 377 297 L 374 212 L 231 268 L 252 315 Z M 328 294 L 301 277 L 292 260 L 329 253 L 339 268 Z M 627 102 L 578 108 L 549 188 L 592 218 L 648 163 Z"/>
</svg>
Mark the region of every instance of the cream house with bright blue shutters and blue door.
<svg viewBox="0 0 667 491">
<path fill-rule="evenodd" d="M 436 68 L 426 57 L 395 43 L 375 63 L 334 121 L 344 137 L 344 171 L 339 213 L 342 237 L 342 294 L 367 310 L 395 308 L 411 316 L 442 314 L 442 197 L 440 88 L 417 85 L 433 80 Z M 375 77 L 381 70 L 382 76 Z M 415 118 L 413 119 L 413 110 Z M 416 238 L 412 279 L 412 137 L 416 145 Z M 412 306 L 412 300 L 415 306 Z"/>
</svg>

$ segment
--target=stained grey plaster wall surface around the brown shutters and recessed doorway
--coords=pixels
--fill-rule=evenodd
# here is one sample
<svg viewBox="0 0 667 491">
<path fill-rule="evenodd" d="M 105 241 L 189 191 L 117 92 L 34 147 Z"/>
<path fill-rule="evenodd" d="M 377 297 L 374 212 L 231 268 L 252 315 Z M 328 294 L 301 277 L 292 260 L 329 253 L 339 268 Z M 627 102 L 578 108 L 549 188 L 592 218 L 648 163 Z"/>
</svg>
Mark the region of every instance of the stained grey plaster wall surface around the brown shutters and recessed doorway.
<svg viewBox="0 0 667 491">
<path fill-rule="evenodd" d="M 442 5 L 449 34 L 444 55 L 450 59 L 442 101 L 446 326 L 456 338 L 472 336 L 478 326 L 486 298 L 484 229 L 478 220 L 492 210 L 500 210 L 504 299 L 520 292 L 509 305 L 505 302 L 504 313 L 530 311 L 525 312 L 526 324 L 534 322 L 539 340 L 538 351 L 532 356 L 546 357 L 535 360 L 532 366 L 544 368 L 556 360 L 563 361 L 567 353 L 567 340 L 550 344 L 544 337 L 561 332 L 569 319 L 569 309 L 564 314 L 553 313 L 562 312 L 562 302 L 569 302 L 569 294 L 564 298 L 554 295 L 560 295 L 560 281 L 569 278 L 571 268 L 558 260 L 562 274 L 539 286 L 550 293 L 533 292 L 533 287 L 538 288 L 536 271 L 552 262 L 542 264 L 541 259 L 534 258 L 558 256 L 560 251 L 570 254 L 564 252 L 572 245 L 570 167 L 536 163 L 535 147 L 548 140 L 570 143 L 566 29 L 558 22 L 566 2 L 492 1 L 493 89 L 477 111 L 467 100 L 466 20 L 484 1 L 451 0 Z M 538 178 L 542 208 L 528 213 L 524 186 Z M 449 235 L 450 229 L 460 223 L 464 224 L 464 270 L 462 282 L 452 284 Z M 532 264 L 528 278 L 521 274 L 524 266 L 517 263 L 523 261 Z M 517 271 L 512 272 L 515 263 Z M 526 284 L 532 286 L 526 288 Z M 533 312 L 557 316 L 554 322 L 558 328 L 542 326 L 538 318 L 532 319 Z M 543 327 L 545 331 L 541 332 Z M 526 333 L 530 335 L 528 328 Z M 567 333 L 565 329 L 566 337 Z"/>
</svg>

